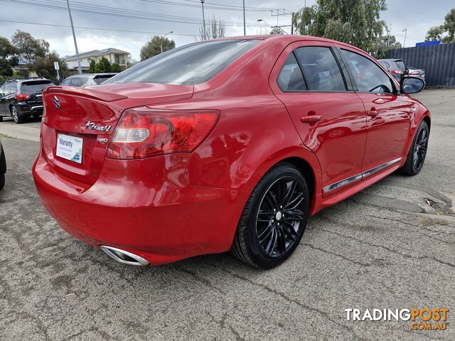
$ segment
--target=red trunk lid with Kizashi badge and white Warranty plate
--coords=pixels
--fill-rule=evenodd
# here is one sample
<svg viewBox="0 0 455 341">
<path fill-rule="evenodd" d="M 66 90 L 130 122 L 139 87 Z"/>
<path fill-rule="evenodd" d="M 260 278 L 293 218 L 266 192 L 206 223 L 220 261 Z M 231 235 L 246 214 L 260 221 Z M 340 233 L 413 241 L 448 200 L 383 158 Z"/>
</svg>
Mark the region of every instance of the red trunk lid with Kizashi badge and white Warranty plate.
<svg viewBox="0 0 455 341">
<path fill-rule="evenodd" d="M 109 138 L 124 109 L 192 96 L 193 86 L 188 85 L 125 83 L 84 88 L 49 87 L 43 92 L 43 151 L 56 171 L 93 184 L 101 173 Z M 71 153 L 79 155 L 72 161 L 62 155 L 62 151 L 75 139 L 82 139 L 82 151 L 72 150 Z M 79 142 L 75 145 L 80 146 Z"/>
</svg>

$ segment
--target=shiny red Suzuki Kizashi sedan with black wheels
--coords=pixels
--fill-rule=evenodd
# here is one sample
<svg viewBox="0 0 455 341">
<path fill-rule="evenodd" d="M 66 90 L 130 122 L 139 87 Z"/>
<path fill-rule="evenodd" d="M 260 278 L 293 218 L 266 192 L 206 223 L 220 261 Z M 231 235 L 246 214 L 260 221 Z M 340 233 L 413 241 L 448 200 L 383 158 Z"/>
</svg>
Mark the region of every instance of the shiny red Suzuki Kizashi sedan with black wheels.
<svg viewBox="0 0 455 341">
<path fill-rule="evenodd" d="M 183 45 L 96 89 L 45 90 L 33 178 L 63 229 L 122 263 L 230 250 L 269 269 L 309 215 L 421 171 L 430 114 L 407 93 L 423 86 L 324 38 Z"/>
</svg>

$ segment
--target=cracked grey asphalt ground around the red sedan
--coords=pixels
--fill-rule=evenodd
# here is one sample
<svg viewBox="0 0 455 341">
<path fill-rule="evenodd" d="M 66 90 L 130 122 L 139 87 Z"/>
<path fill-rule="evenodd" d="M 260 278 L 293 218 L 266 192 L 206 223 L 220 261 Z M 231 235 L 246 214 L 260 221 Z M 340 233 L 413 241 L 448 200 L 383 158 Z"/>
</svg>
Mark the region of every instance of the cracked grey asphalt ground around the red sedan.
<svg viewBox="0 0 455 341">
<path fill-rule="evenodd" d="M 455 90 L 416 97 L 433 115 L 422 172 L 390 175 L 311 217 L 294 255 L 270 271 L 229 254 L 112 261 L 41 206 L 38 144 L 2 136 L 0 340 L 455 340 Z M 348 321 L 346 308 L 449 315 L 446 330 L 414 331 Z"/>
</svg>

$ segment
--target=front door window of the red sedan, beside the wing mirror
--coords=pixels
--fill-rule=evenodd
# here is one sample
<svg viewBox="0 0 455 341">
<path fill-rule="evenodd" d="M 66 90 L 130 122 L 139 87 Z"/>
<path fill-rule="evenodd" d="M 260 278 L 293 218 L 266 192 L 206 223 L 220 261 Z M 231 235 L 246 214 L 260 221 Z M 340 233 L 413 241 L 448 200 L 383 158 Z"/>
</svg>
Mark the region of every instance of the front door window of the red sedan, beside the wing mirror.
<svg viewBox="0 0 455 341">
<path fill-rule="evenodd" d="M 341 53 L 348 61 L 359 92 L 393 92 L 392 81 L 372 60 L 348 50 L 341 50 Z"/>
</svg>

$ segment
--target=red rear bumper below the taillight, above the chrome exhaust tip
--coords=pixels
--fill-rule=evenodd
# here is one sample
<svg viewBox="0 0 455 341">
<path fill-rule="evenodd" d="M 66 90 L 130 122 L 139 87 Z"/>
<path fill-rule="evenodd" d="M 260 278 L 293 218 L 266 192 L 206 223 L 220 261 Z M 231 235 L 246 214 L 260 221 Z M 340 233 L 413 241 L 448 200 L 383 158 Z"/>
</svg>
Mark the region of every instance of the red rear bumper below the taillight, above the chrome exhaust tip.
<svg viewBox="0 0 455 341">
<path fill-rule="evenodd" d="M 97 182 L 85 185 L 54 171 L 40 153 L 33 178 L 43 205 L 68 233 L 164 264 L 228 251 L 243 207 L 240 191 L 186 185 L 187 159 L 107 159 Z M 136 173 L 137 167 L 149 171 Z"/>
</svg>

